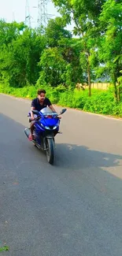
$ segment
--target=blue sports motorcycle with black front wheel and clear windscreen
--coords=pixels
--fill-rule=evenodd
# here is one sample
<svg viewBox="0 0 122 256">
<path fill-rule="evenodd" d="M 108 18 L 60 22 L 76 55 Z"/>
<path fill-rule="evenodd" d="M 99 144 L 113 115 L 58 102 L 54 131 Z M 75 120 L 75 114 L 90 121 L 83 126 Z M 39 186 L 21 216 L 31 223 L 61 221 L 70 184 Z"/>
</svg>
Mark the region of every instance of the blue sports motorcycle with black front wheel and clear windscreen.
<svg viewBox="0 0 122 256">
<path fill-rule="evenodd" d="M 48 107 L 43 108 L 41 111 L 32 110 L 35 115 L 34 124 L 34 143 L 35 147 L 39 150 L 44 150 L 46 152 L 47 161 L 50 165 L 54 164 L 54 149 L 55 140 L 54 137 L 59 132 L 60 117 L 59 115 L 65 113 L 67 109 L 62 109 L 59 114 L 53 113 Z M 31 113 L 28 113 L 29 122 L 31 122 Z M 27 137 L 30 135 L 30 128 L 24 129 L 25 135 Z"/>
</svg>

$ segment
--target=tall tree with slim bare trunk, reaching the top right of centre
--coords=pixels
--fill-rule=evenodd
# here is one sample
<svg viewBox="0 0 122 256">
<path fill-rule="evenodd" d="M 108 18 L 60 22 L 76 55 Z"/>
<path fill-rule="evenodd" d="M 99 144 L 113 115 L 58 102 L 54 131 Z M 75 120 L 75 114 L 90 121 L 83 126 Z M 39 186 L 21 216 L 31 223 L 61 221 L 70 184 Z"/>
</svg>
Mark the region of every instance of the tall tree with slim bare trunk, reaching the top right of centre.
<svg viewBox="0 0 122 256">
<path fill-rule="evenodd" d="M 98 33 L 98 17 L 104 0 L 53 0 L 67 24 L 75 23 L 74 34 L 81 40 L 81 64 L 87 72 L 89 95 L 91 96 L 91 53 L 95 48 L 95 39 Z"/>
</svg>

